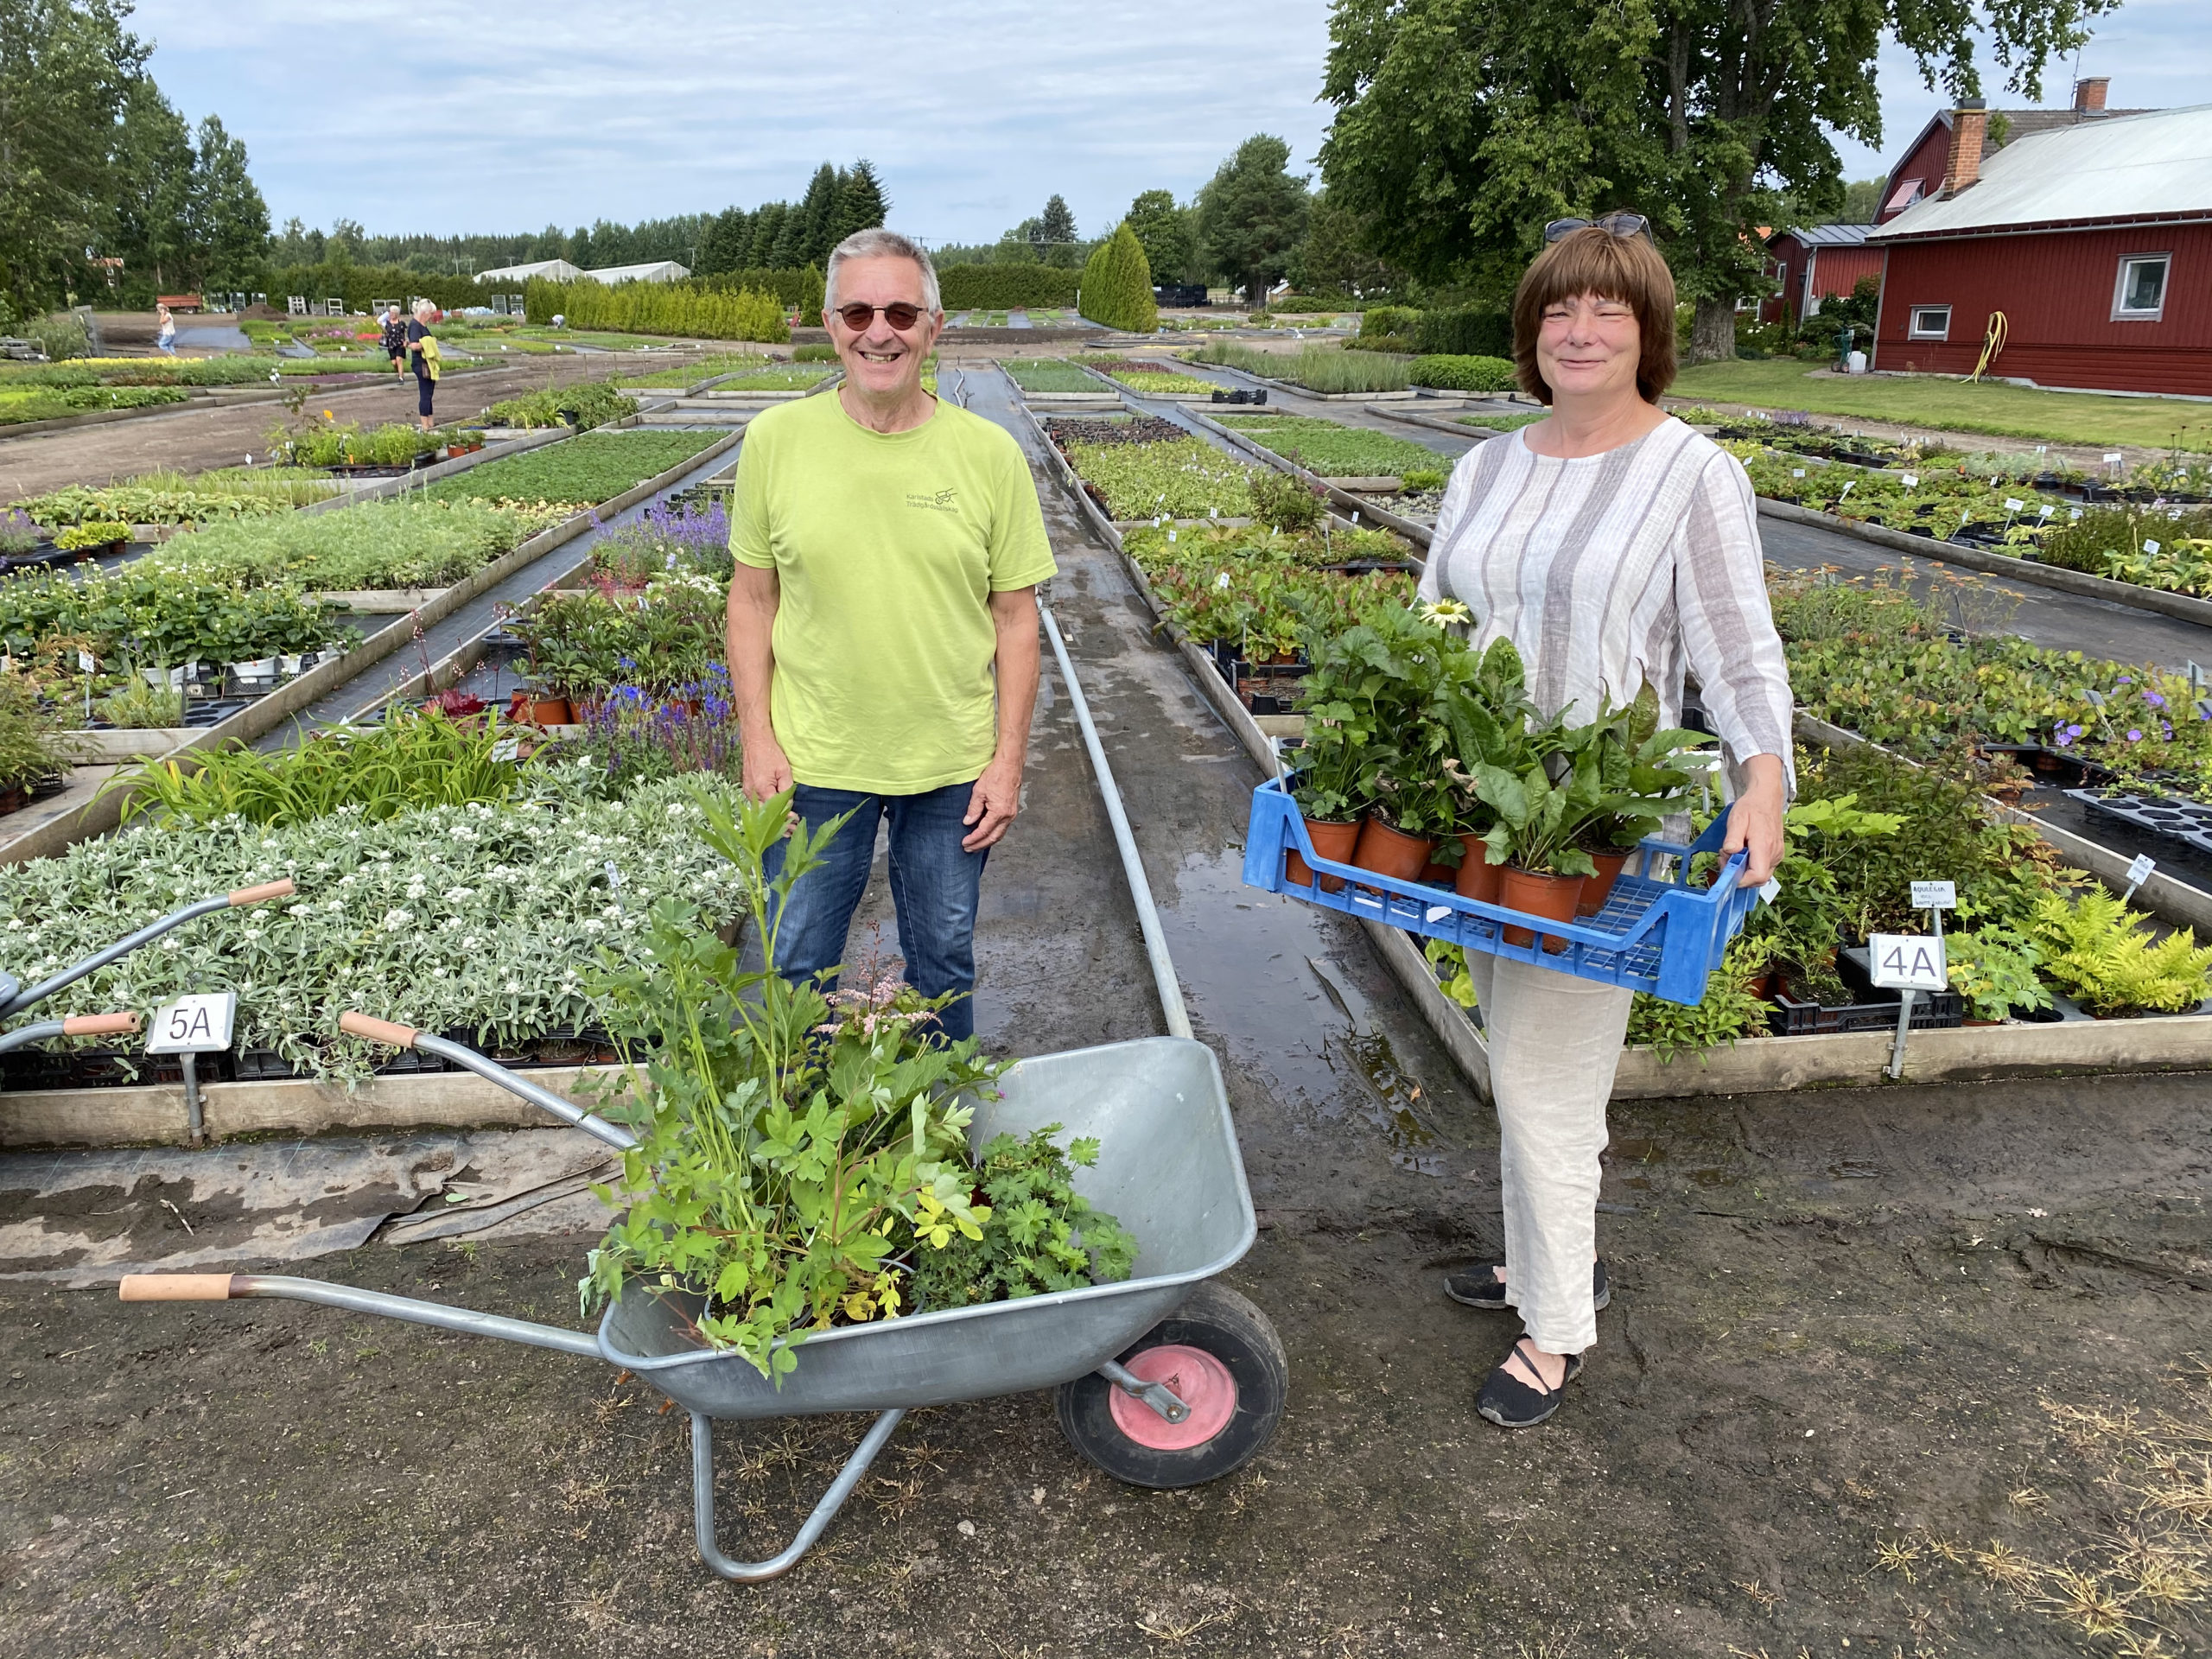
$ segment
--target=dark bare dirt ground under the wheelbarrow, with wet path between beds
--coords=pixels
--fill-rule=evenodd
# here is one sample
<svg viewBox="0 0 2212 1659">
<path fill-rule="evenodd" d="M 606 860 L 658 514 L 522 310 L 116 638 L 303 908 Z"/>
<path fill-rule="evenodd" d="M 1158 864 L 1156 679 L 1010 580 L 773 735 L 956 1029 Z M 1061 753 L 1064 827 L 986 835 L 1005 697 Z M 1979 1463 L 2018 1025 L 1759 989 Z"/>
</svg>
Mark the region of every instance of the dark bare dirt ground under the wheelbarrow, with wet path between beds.
<svg viewBox="0 0 2212 1659">
<path fill-rule="evenodd" d="M 1617 1108 L 1599 1347 L 1559 1418 L 1506 1436 L 1473 1391 L 1513 1325 L 1440 1294 L 1498 1243 L 1495 1126 L 1349 925 L 1239 887 L 1256 774 L 1048 511 L 1053 608 L 1261 1210 L 1228 1281 L 1290 1352 L 1267 1451 L 1141 1493 L 1046 1394 L 916 1413 L 790 1577 L 739 1588 L 692 1551 L 681 1413 L 597 1363 L 0 1281 L 0 1655 L 1924 1659 L 2110 1652 L 2106 1606 L 2141 1652 L 2212 1641 L 2201 1079 Z M 991 1046 L 1159 1029 L 1051 677 L 984 894 Z M 210 1221 L 153 1190 L 88 1208 L 179 1250 Z M 588 1243 L 285 1270 L 582 1325 Z M 860 1427 L 726 1425 L 723 1548 L 781 1548 Z"/>
</svg>

